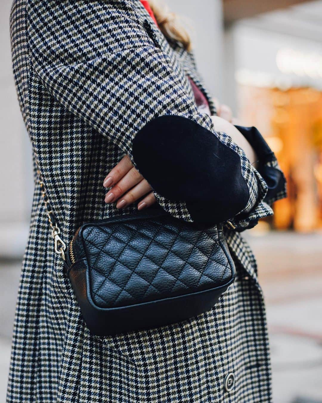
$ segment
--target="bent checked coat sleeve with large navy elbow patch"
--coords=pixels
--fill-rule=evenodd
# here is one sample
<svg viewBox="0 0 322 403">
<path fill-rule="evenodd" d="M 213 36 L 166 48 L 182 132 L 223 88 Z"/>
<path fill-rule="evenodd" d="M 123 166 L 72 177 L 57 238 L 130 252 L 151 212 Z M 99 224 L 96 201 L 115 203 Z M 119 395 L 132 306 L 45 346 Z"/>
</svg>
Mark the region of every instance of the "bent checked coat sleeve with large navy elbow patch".
<svg viewBox="0 0 322 403">
<path fill-rule="evenodd" d="M 28 0 L 27 21 L 47 91 L 130 156 L 165 210 L 207 223 L 253 212 L 265 183 L 198 113 L 134 0 Z"/>
</svg>

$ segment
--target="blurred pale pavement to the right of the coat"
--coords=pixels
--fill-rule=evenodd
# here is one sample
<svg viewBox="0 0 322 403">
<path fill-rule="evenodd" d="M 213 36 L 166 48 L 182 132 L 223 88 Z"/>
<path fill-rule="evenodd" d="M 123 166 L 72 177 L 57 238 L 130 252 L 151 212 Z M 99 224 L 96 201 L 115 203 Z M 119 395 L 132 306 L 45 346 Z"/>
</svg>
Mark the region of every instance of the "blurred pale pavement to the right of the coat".
<svg viewBox="0 0 322 403">
<path fill-rule="evenodd" d="M 266 299 L 273 403 L 322 403 L 322 234 L 247 238 Z"/>
</svg>

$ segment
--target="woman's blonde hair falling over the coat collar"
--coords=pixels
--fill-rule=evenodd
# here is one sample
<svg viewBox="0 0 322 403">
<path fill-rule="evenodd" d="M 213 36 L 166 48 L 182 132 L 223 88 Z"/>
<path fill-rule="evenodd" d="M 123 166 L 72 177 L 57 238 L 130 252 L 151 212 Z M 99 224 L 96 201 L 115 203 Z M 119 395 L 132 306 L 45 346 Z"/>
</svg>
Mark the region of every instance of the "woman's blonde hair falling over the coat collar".
<svg viewBox="0 0 322 403">
<path fill-rule="evenodd" d="M 159 0 L 148 1 L 163 35 L 180 42 L 190 52 L 192 48 L 191 39 L 186 29 L 181 25 L 179 17 L 170 12 L 169 8 L 165 4 L 161 4 Z"/>
</svg>

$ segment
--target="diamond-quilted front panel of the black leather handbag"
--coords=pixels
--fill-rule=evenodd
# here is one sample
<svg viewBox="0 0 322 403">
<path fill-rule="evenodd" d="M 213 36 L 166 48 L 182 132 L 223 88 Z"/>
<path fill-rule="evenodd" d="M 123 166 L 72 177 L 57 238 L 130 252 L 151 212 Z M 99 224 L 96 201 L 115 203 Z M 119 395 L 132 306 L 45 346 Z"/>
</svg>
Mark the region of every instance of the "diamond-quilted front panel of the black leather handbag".
<svg viewBox="0 0 322 403">
<path fill-rule="evenodd" d="M 138 214 L 85 224 L 78 237 L 87 256 L 91 297 L 103 308 L 212 289 L 233 275 L 217 226 L 200 230 L 169 215 Z M 79 258 L 84 251 L 76 254 Z"/>
</svg>

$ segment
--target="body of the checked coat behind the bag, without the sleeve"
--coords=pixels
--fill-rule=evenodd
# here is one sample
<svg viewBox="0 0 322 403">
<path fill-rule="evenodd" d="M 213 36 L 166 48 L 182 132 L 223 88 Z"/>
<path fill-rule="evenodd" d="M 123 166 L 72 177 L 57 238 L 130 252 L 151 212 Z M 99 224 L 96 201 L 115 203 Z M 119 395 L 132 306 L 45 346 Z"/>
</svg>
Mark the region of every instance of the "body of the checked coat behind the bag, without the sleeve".
<svg viewBox="0 0 322 403">
<path fill-rule="evenodd" d="M 170 46 L 139 0 L 136 4 L 187 93 L 194 99 L 191 77 L 214 113 L 193 56 L 178 44 Z M 103 178 L 123 152 L 43 87 L 31 68 L 23 37 L 24 6 L 24 0 L 17 0 L 12 14 L 14 73 L 35 161 L 62 238 L 68 241 L 83 222 L 136 208 L 120 212 L 104 203 Z M 19 401 L 21 396 L 30 401 L 55 401 L 58 396 L 59 402 L 268 401 L 266 324 L 263 314 L 252 314 L 254 304 L 258 312 L 264 309 L 262 296 L 252 253 L 239 234 L 227 231 L 229 247 L 235 251 L 237 281 L 213 310 L 185 324 L 99 340 L 84 326 L 62 262 L 54 255 L 38 179 L 35 169 L 31 233 L 14 339 L 21 369 L 17 364 L 12 367 L 8 401 Z M 248 280 L 248 275 L 254 280 Z M 228 372 L 236 378 L 235 400 L 231 400 L 234 395 L 224 394 Z M 253 391 L 248 379 L 255 384 Z"/>
</svg>

